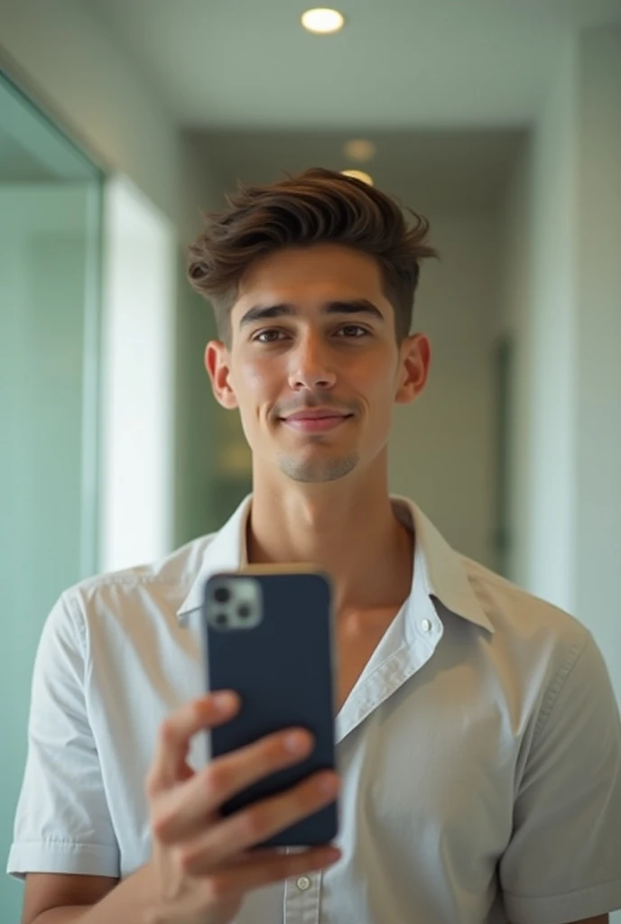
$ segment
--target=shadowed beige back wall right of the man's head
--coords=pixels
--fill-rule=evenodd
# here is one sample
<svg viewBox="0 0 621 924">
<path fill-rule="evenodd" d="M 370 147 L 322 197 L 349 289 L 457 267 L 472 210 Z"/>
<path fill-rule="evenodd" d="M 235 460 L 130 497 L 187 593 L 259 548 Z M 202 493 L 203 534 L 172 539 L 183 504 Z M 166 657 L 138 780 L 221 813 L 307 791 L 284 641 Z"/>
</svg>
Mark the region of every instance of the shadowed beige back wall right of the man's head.
<svg viewBox="0 0 621 924">
<path fill-rule="evenodd" d="M 391 489 L 411 496 L 459 551 L 493 566 L 498 220 L 429 217 L 442 261 L 422 268 L 413 329 L 431 336 L 432 374 L 415 404 L 396 408 Z"/>
</svg>

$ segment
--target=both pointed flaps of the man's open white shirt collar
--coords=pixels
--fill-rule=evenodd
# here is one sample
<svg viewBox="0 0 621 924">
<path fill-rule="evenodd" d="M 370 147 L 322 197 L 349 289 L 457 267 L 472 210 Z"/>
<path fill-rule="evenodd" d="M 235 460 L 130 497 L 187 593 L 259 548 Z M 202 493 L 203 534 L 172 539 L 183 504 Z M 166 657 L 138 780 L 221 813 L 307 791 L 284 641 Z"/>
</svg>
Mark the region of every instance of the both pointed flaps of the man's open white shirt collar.
<svg viewBox="0 0 621 924">
<path fill-rule="evenodd" d="M 451 548 L 416 504 L 398 496 L 393 497 L 392 501 L 397 517 L 409 529 L 414 528 L 417 569 L 422 572 L 416 574 L 415 579 L 420 577 L 426 595 L 432 602 L 439 601 L 451 613 L 493 632 L 493 625 L 470 586 L 461 556 Z M 249 494 L 207 545 L 199 574 L 177 610 L 177 618 L 181 623 L 187 623 L 189 614 L 200 609 L 207 577 L 219 571 L 235 571 L 246 563 L 246 526 L 251 502 L 252 496 Z"/>
</svg>

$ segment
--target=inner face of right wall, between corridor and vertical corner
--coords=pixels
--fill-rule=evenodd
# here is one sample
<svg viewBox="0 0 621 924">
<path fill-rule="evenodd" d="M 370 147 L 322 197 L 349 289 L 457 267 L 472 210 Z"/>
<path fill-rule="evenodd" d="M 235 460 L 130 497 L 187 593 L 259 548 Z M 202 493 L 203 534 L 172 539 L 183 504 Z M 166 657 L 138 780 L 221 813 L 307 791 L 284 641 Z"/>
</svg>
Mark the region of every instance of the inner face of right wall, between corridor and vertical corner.
<svg viewBox="0 0 621 924">
<path fill-rule="evenodd" d="M 511 576 L 573 610 L 576 49 L 567 43 L 505 208 L 502 329 L 516 341 Z"/>
</svg>

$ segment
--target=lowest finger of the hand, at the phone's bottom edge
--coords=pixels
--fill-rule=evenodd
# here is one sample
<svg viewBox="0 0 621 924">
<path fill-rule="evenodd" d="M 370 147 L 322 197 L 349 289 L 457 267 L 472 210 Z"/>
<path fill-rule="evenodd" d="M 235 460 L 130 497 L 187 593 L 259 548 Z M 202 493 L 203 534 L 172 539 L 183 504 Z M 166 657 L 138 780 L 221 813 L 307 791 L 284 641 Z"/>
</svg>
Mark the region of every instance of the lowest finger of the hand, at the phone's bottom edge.
<svg viewBox="0 0 621 924">
<path fill-rule="evenodd" d="M 256 851 L 254 856 L 243 857 L 213 873 L 209 878 L 210 893 L 214 900 L 222 901 L 272 882 L 326 869 L 337 863 L 341 856 L 341 851 L 334 846 L 313 847 L 295 854 Z"/>
</svg>

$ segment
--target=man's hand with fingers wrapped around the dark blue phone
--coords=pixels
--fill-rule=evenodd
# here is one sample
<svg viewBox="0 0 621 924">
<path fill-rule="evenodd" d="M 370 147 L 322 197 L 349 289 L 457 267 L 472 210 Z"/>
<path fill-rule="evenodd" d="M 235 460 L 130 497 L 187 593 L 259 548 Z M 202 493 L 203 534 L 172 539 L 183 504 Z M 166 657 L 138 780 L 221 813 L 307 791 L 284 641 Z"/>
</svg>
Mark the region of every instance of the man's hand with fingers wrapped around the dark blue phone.
<svg viewBox="0 0 621 924">
<path fill-rule="evenodd" d="M 231 798 L 308 758 L 313 748 L 308 732 L 288 729 L 193 772 L 186 761 L 192 736 L 225 727 L 239 710 L 235 694 L 212 694 L 183 706 L 161 727 L 146 783 L 152 829 L 148 914 L 158 924 L 229 924 L 250 890 L 323 869 L 340 856 L 331 847 L 294 854 L 250 849 L 334 802 L 334 772 L 314 774 L 286 793 L 221 817 Z"/>
</svg>

